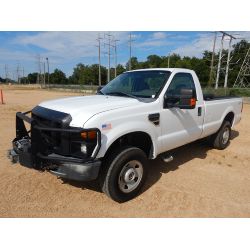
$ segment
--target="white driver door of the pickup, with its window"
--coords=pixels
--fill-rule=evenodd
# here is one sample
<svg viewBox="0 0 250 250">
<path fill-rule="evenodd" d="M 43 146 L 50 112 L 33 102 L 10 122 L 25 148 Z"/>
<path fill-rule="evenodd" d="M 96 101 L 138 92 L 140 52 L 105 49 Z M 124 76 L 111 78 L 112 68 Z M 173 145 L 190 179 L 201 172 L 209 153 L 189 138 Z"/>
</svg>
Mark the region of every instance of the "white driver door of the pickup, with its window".
<svg viewBox="0 0 250 250">
<path fill-rule="evenodd" d="M 194 109 L 163 108 L 161 117 L 163 152 L 197 140 L 203 127 L 202 100 L 197 100 L 196 88 L 190 73 L 176 73 L 166 94 L 178 94 L 180 89 L 193 89 L 196 96 Z"/>
</svg>

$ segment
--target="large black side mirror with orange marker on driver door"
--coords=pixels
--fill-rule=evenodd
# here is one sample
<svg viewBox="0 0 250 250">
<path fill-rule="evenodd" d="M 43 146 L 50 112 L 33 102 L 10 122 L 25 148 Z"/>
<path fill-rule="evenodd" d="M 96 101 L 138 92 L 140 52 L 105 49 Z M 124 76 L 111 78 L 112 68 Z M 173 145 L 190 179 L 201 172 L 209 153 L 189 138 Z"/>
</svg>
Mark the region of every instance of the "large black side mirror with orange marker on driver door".
<svg viewBox="0 0 250 250">
<path fill-rule="evenodd" d="M 194 109 L 196 97 L 193 89 L 182 88 L 178 94 L 168 94 L 164 96 L 164 108 Z"/>
</svg>

